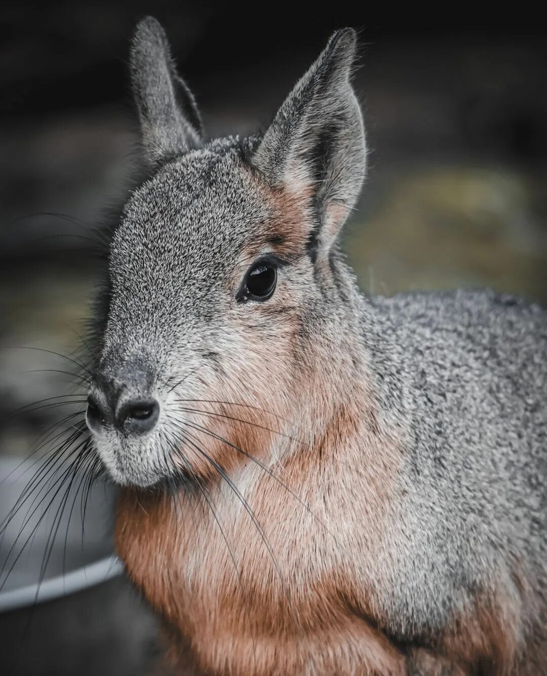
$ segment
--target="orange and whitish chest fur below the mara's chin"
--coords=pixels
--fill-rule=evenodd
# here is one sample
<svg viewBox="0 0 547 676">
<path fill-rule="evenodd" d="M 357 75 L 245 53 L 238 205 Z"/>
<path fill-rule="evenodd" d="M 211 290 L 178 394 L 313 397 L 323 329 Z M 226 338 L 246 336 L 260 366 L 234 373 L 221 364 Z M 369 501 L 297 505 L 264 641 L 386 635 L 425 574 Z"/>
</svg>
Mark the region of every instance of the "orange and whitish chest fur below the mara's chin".
<svg viewBox="0 0 547 676">
<path fill-rule="evenodd" d="M 234 487 L 192 495 L 123 491 L 116 540 L 130 577 L 205 673 L 402 673 L 374 617 L 382 582 L 363 583 L 382 570 L 386 490 L 356 504 L 344 468 L 325 462 L 313 481 L 288 469 L 247 466 Z"/>
</svg>

